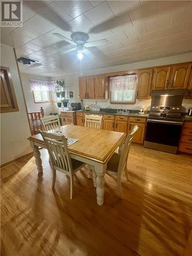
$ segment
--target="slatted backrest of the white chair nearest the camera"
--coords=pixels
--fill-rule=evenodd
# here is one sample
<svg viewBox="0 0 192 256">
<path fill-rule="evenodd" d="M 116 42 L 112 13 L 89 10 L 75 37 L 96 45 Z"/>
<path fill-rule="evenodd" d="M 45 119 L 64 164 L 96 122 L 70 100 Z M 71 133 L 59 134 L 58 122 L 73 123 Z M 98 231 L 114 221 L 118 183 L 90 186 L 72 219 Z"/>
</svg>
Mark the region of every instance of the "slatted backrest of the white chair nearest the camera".
<svg viewBox="0 0 192 256">
<path fill-rule="evenodd" d="M 45 141 L 52 167 L 63 173 L 72 172 L 71 156 L 65 136 L 43 131 L 39 132 Z"/>
</svg>

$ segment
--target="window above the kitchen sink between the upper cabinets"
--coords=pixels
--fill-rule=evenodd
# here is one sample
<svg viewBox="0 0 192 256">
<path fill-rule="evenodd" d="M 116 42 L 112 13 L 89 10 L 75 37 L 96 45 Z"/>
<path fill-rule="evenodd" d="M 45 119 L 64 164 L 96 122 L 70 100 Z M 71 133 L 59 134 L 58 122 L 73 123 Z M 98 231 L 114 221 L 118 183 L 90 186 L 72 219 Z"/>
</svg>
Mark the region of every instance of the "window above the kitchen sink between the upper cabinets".
<svg viewBox="0 0 192 256">
<path fill-rule="evenodd" d="M 134 103 L 137 89 L 137 75 L 110 77 L 111 103 Z"/>
</svg>

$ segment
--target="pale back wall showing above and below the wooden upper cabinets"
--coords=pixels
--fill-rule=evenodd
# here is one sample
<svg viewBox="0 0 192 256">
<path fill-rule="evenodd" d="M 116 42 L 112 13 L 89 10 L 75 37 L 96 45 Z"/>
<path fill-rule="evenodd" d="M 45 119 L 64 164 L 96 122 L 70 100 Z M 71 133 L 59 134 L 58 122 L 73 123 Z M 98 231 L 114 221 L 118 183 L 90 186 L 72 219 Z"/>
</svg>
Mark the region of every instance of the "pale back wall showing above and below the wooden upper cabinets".
<svg viewBox="0 0 192 256">
<path fill-rule="evenodd" d="M 103 68 L 103 69 L 97 69 L 92 71 L 84 71 L 82 76 L 87 75 L 96 75 L 96 74 L 103 74 L 103 73 L 110 73 L 110 72 L 116 72 L 116 71 L 124 71 L 124 70 L 135 70 L 135 69 L 142 69 L 142 68 L 149 68 L 154 66 L 162 66 L 162 65 L 169 65 L 173 63 L 180 63 L 180 62 L 186 62 L 192 60 L 192 53 L 182 54 L 182 55 L 176 55 L 176 56 L 170 56 L 166 58 L 159 58 L 159 59 L 152 59 L 152 60 L 146 60 L 136 63 L 129 63 L 126 65 L 121 66 L 114 66 L 109 68 Z M 66 85 L 69 86 L 69 91 L 74 92 L 74 98 L 70 99 L 70 102 L 79 102 L 80 99 L 78 98 L 79 94 L 79 86 L 78 86 L 78 77 L 81 76 L 80 73 L 75 74 L 69 74 L 65 76 L 60 76 L 57 78 L 64 77 L 66 80 Z M 111 104 L 109 100 L 94 100 L 94 99 L 83 99 L 83 106 L 84 105 L 91 105 L 95 104 L 97 101 L 97 104 L 101 108 L 106 108 L 107 106 L 110 106 L 114 109 L 139 109 L 140 106 L 144 105 L 145 110 L 150 109 L 151 100 L 150 99 L 137 99 L 136 103 L 133 105 L 117 105 L 117 104 Z M 192 99 L 184 99 L 183 100 L 183 106 L 188 109 L 189 106 L 192 106 Z"/>
</svg>

